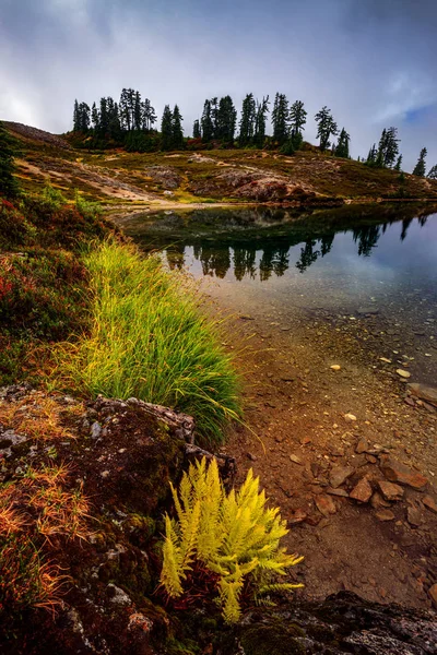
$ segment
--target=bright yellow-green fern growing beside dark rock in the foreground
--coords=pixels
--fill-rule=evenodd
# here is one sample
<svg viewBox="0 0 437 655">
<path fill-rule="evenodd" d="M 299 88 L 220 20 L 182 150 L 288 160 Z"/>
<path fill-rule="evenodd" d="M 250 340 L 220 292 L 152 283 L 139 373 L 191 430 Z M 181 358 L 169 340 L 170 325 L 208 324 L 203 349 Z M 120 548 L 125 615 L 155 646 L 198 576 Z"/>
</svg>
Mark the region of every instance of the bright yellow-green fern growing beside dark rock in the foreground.
<svg viewBox="0 0 437 655">
<path fill-rule="evenodd" d="M 259 478 L 247 474 L 240 490 L 226 493 L 216 461 L 205 458 L 184 474 L 179 493 L 172 486 L 177 521 L 165 517 L 164 563 L 161 583 L 169 596 L 184 593 L 182 582 L 194 561 L 215 575 L 223 616 L 235 622 L 240 616 L 239 597 L 245 577 L 258 594 L 290 591 L 300 584 L 276 584 L 272 576 L 284 575 L 302 557 L 280 548 L 287 534 L 279 509 L 265 508 Z"/>
</svg>

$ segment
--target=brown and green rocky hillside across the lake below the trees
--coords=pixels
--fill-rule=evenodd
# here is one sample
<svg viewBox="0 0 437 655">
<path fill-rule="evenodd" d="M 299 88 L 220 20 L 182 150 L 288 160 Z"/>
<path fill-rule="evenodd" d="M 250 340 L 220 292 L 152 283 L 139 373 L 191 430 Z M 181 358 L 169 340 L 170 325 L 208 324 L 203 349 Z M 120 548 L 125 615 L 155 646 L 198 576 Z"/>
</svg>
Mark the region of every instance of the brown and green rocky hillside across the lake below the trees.
<svg viewBox="0 0 437 655">
<path fill-rule="evenodd" d="M 19 177 L 25 190 L 49 182 L 68 196 L 78 189 L 108 205 L 437 199 L 437 181 L 409 174 L 402 181 L 393 170 L 335 158 L 309 144 L 291 157 L 256 150 L 86 152 L 48 132 L 5 124 L 20 142 Z"/>
</svg>

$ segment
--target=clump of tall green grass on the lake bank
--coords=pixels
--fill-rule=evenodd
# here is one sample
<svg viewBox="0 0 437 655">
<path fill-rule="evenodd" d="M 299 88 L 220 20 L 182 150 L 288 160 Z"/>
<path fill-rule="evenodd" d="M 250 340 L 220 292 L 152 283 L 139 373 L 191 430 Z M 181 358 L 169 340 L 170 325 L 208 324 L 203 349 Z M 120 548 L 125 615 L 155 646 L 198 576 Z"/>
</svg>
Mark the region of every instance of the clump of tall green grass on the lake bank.
<svg viewBox="0 0 437 655">
<path fill-rule="evenodd" d="M 137 396 L 190 414 L 204 440 L 220 442 L 226 422 L 240 415 L 238 376 L 190 283 L 167 273 L 157 257 L 114 241 L 84 263 L 92 329 L 63 346 L 61 373 L 91 394 Z"/>
</svg>

